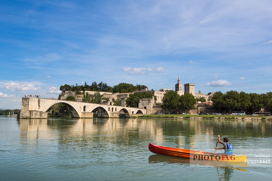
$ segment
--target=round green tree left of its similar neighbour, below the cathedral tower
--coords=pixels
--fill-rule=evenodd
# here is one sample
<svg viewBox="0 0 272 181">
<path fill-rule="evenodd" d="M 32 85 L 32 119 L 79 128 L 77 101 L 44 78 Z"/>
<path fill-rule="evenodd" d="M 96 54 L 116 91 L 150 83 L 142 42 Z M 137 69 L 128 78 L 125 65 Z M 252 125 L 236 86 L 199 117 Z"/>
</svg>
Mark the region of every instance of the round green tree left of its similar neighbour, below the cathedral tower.
<svg viewBox="0 0 272 181">
<path fill-rule="evenodd" d="M 171 110 L 176 109 L 178 106 L 179 97 L 176 91 L 169 90 L 164 94 L 161 106 L 170 113 Z"/>
</svg>

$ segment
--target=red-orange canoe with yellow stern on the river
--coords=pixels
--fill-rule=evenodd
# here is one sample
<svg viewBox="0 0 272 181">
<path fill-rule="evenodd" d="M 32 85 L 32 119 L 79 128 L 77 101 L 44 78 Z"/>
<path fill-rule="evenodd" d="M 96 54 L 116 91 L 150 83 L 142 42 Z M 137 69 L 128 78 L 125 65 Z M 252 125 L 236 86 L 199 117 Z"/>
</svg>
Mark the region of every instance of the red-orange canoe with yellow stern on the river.
<svg viewBox="0 0 272 181">
<path fill-rule="evenodd" d="M 197 156 L 196 160 L 198 160 L 199 156 L 200 158 L 203 158 L 203 159 L 206 156 L 205 159 L 214 160 L 214 161 L 245 162 L 245 160 L 247 160 L 246 155 L 233 155 L 231 156 L 231 158 L 230 156 L 227 156 L 228 158 L 226 158 L 226 156 L 221 155 L 220 159 L 218 160 L 218 159 L 215 159 L 216 156 L 217 158 L 219 158 L 218 154 L 215 154 L 212 152 L 186 150 L 181 148 L 170 148 L 170 147 L 164 147 L 164 146 L 157 146 L 151 143 L 149 143 L 148 148 L 152 153 L 155 153 L 155 154 L 175 156 L 175 157 L 181 157 L 181 158 L 190 158 L 190 159 L 194 159 L 194 157 Z"/>
</svg>

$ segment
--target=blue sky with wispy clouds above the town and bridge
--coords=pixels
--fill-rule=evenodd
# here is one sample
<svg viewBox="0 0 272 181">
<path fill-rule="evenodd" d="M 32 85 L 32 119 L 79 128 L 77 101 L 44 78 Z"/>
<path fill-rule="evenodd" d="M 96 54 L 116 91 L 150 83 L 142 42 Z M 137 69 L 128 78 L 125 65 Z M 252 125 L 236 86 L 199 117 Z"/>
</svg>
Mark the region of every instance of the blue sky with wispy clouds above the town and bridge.
<svg viewBox="0 0 272 181">
<path fill-rule="evenodd" d="M 1 1 L 0 108 L 60 85 L 271 91 L 272 1 Z"/>
</svg>

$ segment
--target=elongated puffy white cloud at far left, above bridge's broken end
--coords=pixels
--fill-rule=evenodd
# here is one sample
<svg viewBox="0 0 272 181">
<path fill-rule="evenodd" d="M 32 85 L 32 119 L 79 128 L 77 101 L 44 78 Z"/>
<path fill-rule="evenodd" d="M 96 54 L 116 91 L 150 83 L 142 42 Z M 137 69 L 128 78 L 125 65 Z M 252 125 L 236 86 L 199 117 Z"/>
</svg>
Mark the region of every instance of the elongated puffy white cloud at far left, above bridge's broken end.
<svg viewBox="0 0 272 181">
<path fill-rule="evenodd" d="M 12 91 L 30 91 L 30 90 L 38 90 L 42 87 L 36 87 L 33 83 L 16 83 L 16 82 L 8 82 L 3 83 L 3 88 Z"/>
</svg>

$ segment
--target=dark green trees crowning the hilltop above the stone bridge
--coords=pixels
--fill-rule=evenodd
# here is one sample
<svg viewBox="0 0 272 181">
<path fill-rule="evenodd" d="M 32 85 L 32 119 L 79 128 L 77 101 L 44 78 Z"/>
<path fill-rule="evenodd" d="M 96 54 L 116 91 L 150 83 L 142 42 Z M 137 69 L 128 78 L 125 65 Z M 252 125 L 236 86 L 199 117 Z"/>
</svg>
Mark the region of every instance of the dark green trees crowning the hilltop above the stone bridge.
<svg viewBox="0 0 272 181">
<path fill-rule="evenodd" d="M 131 83 L 119 83 L 113 87 L 107 85 L 107 83 L 100 83 L 93 82 L 91 85 L 88 85 L 86 82 L 84 85 L 61 85 L 61 91 L 75 91 L 79 94 L 80 91 L 98 91 L 98 92 L 116 92 L 116 93 L 125 93 L 125 92 L 133 92 L 133 91 L 140 91 L 142 89 L 146 89 L 146 85 L 136 84 L 133 85 Z"/>
</svg>

